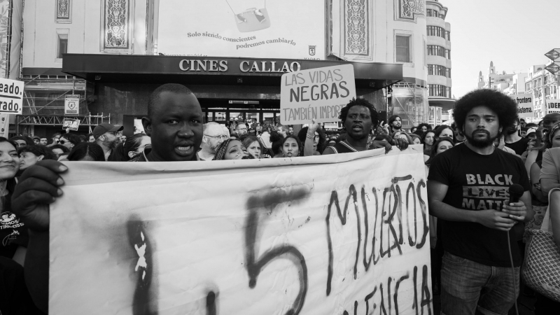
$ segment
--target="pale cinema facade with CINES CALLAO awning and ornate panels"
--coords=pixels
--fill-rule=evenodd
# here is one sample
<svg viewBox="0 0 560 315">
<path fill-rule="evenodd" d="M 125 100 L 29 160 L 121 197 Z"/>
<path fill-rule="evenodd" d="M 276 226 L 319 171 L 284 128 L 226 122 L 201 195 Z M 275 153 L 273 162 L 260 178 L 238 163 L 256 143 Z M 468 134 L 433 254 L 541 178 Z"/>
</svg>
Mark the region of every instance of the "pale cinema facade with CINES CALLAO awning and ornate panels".
<svg viewBox="0 0 560 315">
<path fill-rule="evenodd" d="M 132 134 L 164 83 L 193 90 L 207 121 L 272 122 L 283 73 L 339 64 L 379 112 L 405 127 L 428 119 L 422 1 L 277 2 L 26 0 L 25 108 L 12 130 L 49 136 L 78 118 L 79 133 L 110 122 Z M 78 115 L 64 115 L 69 94 Z"/>
</svg>

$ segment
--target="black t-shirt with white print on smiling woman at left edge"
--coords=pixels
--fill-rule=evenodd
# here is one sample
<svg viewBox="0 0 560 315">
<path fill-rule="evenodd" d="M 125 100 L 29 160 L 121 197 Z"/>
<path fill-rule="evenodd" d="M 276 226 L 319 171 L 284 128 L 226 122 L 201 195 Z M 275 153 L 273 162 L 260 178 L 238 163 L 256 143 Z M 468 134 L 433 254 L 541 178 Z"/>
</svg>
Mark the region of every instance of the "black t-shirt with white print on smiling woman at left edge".
<svg viewBox="0 0 560 315">
<path fill-rule="evenodd" d="M 1 197 L 0 214 L 0 256 L 13 258 L 18 246 L 27 247 L 29 235 L 27 228 L 18 216 L 11 212 L 11 200 L 15 188 L 15 179 L 8 180 L 6 189 L 8 195 Z"/>
</svg>

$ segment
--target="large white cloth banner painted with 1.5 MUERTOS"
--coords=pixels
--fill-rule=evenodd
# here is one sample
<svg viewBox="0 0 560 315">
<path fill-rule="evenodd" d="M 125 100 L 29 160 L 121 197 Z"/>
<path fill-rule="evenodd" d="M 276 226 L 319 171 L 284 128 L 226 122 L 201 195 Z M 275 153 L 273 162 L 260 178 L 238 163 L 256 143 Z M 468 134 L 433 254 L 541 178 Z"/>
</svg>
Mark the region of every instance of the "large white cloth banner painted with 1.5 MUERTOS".
<svg viewBox="0 0 560 315">
<path fill-rule="evenodd" d="M 430 314 L 421 149 L 66 162 L 49 311 Z"/>
</svg>

